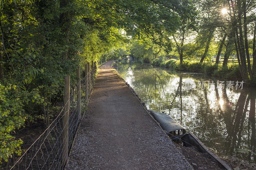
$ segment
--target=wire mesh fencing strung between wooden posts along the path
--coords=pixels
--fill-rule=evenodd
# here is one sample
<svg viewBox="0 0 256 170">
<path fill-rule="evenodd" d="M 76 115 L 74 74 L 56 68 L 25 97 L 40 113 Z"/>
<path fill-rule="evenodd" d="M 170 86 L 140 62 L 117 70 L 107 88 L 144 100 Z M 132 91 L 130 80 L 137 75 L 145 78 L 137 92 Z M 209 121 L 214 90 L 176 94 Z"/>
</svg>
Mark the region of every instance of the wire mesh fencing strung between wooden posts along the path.
<svg viewBox="0 0 256 170">
<path fill-rule="evenodd" d="M 84 75 L 80 79 L 81 113 L 88 103 L 89 95 L 94 85 L 94 74 Z M 88 83 L 88 86 L 86 85 Z M 70 88 L 69 118 L 68 118 L 68 151 L 70 151 L 76 130 L 80 122 L 78 111 L 78 83 Z M 88 89 L 88 90 L 87 90 Z M 36 139 L 36 141 L 15 162 L 10 170 L 32 169 L 64 169 L 63 158 L 63 114 L 64 107 L 50 126 Z M 65 137 L 64 137 L 65 138 Z M 64 152 L 68 153 L 68 152 Z"/>
</svg>

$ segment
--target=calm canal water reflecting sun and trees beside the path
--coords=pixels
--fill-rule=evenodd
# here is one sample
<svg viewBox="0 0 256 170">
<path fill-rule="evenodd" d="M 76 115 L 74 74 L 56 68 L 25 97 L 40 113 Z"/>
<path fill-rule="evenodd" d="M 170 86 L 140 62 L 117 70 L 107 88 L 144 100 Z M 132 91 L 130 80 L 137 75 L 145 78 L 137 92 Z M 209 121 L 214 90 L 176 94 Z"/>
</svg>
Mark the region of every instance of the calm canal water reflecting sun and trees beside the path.
<svg viewBox="0 0 256 170">
<path fill-rule="evenodd" d="M 119 64 L 118 72 L 149 110 L 170 115 L 217 155 L 256 162 L 255 88 L 223 88 L 204 74 L 132 61 Z"/>
</svg>

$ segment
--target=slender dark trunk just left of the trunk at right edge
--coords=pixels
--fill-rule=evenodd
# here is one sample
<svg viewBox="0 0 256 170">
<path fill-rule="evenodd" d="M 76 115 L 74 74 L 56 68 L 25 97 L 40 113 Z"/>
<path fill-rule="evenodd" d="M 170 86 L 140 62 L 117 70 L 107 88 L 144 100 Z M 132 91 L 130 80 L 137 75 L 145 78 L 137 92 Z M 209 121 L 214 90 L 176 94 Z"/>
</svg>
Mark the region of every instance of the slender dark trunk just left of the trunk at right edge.
<svg viewBox="0 0 256 170">
<path fill-rule="evenodd" d="M 250 75 L 250 78 L 252 78 L 252 67 L 251 67 L 250 54 L 249 54 L 249 48 L 248 48 L 248 39 L 247 39 L 247 19 L 246 19 L 246 1 L 245 0 L 243 2 L 243 9 L 244 9 L 244 47 L 245 47 L 246 58 L 247 58 L 248 73 Z"/>
</svg>

